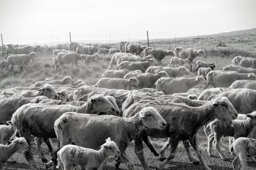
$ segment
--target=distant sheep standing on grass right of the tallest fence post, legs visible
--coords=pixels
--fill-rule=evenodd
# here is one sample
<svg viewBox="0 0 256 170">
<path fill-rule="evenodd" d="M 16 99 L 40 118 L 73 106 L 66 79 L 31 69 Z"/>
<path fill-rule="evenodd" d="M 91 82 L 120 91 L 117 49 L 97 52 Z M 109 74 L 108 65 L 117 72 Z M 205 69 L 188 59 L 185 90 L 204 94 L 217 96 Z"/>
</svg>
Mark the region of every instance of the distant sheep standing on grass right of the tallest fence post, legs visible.
<svg viewBox="0 0 256 170">
<path fill-rule="evenodd" d="M 190 71 L 192 71 L 192 61 L 195 57 L 203 55 L 206 57 L 205 50 L 194 50 L 192 48 L 183 48 L 181 46 L 177 46 L 173 51 L 175 57 L 179 57 L 180 59 L 188 59 L 190 65 Z"/>
</svg>

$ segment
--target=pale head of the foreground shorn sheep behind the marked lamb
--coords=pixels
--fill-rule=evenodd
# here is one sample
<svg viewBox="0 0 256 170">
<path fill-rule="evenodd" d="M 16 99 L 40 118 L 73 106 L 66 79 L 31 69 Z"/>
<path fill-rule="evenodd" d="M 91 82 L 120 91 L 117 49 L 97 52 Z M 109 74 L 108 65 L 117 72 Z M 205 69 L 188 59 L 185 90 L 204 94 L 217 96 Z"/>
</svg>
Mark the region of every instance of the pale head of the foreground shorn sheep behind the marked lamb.
<svg viewBox="0 0 256 170">
<path fill-rule="evenodd" d="M 145 127 L 154 129 L 165 129 L 166 122 L 160 113 L 153 107 L 143 108 L 139 112 L 140 120 Z"/>
</svg>

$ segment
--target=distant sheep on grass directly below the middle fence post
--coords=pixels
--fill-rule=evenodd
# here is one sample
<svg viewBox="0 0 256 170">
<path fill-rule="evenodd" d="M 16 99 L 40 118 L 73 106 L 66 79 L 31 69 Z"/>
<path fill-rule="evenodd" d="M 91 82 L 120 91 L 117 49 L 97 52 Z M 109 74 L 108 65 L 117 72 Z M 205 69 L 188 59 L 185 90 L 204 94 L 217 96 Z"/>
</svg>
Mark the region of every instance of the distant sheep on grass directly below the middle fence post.
<svg viewBox="0 0 256 170">
<path fill-rule="evenodd" d="M 77 67 L 77 61 L 82 60 L 82 54 L 76 53 L 76 52 L 70 52 L 70 53 L 58 53 L 57 60 L 60 63 L 60 66 L 65 69 L 64 64 L 72 64 L 72 66 L 75 64 Z"/>
</svg>

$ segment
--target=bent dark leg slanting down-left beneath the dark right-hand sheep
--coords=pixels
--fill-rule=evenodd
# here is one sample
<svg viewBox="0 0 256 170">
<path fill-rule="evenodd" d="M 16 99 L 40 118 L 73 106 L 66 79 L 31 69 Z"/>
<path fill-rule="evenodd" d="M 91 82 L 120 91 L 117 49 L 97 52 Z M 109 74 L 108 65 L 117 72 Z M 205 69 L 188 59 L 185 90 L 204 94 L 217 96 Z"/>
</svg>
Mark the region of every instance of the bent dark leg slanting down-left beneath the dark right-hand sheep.
<svg viewBox="0 0 256 170">
<path fill-rule="evenodd" d="M 177 150 L 177 146 L 179 145 L 179 140 L 170 138 L 170 155 L 165 159 L 163 162 L 160 162 L 160 164 L 156 167 L 156 169 L 161 170 L 164 168 L 164 166 L 175 157 L 175 153 Z"/>
</svg>

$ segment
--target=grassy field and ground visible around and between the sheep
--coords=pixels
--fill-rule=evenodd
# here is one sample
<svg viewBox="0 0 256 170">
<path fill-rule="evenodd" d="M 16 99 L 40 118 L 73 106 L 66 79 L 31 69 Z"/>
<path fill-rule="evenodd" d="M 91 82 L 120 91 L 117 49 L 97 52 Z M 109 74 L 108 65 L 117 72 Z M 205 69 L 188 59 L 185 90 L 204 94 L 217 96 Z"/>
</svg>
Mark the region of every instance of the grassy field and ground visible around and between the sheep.
<svg viewBox="0 0 256 170">
<path fill-rule="evenodd" d="M 217 39 L 217 40 L 216 40 Z M 197 46 L 202 47 L 206 50 L 207 57 L 197 57 L 196 60 L 205 60 L 206 62 L 211 62 L 216 65 L 216 69 L 221 69 L 222 67 L 227 66 L 231 63 L 233 57 L 237 55 L 242 55 L 246 57 L 256 57 L 256 46 L 255 46 L 255 35 L 250 36 L 239 36 L 236 39 L 230 39 L 230 36 L 223 36 L 223 37 L 215 37 L 215 38 L 200 38 L 200 43 L 197 43 L 197 40 L 193 38 L 187 39 L 178 39 L 176 41 L 177 46 L 189 46 L 195 47 Z M 229 45 L 227 47 L 218 47 L 216 45 L 221 42 L 227 42 L 225 44 Z M 238 44 L 239 43 L 239 44 Z M 253 46 L 254 44 L 254 46 Z M 174 49 L 174 40 L 156 40 L 150 42 L 151 46 L 155 46 L 157 48 L 163 48 L 165 50 Z M 247 47 L 250 45 L 250 49 Z M 113 45 L 113 46 L 116 46 Z M 232 46 L 237 46 L 234 48 Z M 243 48 L 244 46 L 244 48 Z M 38 53 L 38 59 L 36 59 L 36 63 L 33 66 L 26 67 L 25 71 L 1 71 L 0 70 L 0 92 L 1 90 L 8 89 L 10 87 L 17 87 L 17 86 L 29 86 L 36 81 L 42 81 L 45 78 L 60 80 L 64 76 L 71 76 L 74 80 L 82 79 L 84 80 L 87 85 L 95 84 L 101 77 L 103 71 L 106 71 L 109 66 L 110 59 L 108 57 L 102 57 L 97 62 L 92 62 L 87 64 L 86 66 L 80 67 L 71 67 L 69 66 L 66 70 L 55 72 L 52 70 L 52 49 L 54 48 L 67 48 L 67 45 L 58 45 L 52 47 L 44 47 L 42 48 L 42 52 Z M 239 47 L 239 48 L 238 48 Z M 3 57 L 0 57 L 0 60 L 3 60 Z M 163 65 L 166 66 L 168 64 L 168 60 L 170 57 L 166 57 L 163 60 Z M 189 76 L 195 76 L 195 73 L 191 73 Z M 211 167 L 212 169 L 232 169 L 232 160 L 234 156 L 228 156 L 228 161 L 223 161 L 220 159 L 219 155 L 214 151 L 214 157 L 209 157 L 206 152 L 207 147 L 207 140 L 203 132 L 199 133 L 199 143 L 200 148 L 202 150 L 203 157 L 205 159 L 206 164 Z M 154 144 L 157 146 L 157 150 L 163 146 L 164 140 L 163 139 L 154 139 Z M 222 140 L 222 145 L 225 148 L 225 153 L 230 155 L 228 152 L 228 145 L 227 139 Z M 46 145 L 44 144 L 44 153 L 47 155 L 49 159 L 49 153 L 47 152 Z M 134 144 L 131 143 L 129 146 L 127 153 L 131 156 L 132 160 L 134 160 L 134 164 L 138 169 L 142 169 L 140 162 L 136 155 L 134 154 Z M 148 150 L 147 146 L 145 146 L 145 158 L 147 159 L 150 168 L 154 168 L 159 163 L 157 157 L 154 157 L 152 153 Z M 195 152 L 193 152 L 195 155 Z M 36 163 L 40 168 L 44 169 L 44 164 L 38 159 L 38 155 L 36 152 L 35 146 L 33 147 L 33 154 L 35 156 Z M 168 152 L 166 152 L 166 155 Z M 5 165 L 6 169 L 29 169 L 28 163 L 24 159 L 24 156 L 21 153 L 15 155 L 15 158 L 18 159 L 19 163 L 10 164 L 7 163 Z M 108 169 L 115 169 L 113 166 L 113 161 L 108 163 Z M 256 168 L 255 164 L 249 162 L 248 164 L 252 168 Z M 122 169 L 126 169 L 124 165 L 121 167 Z M 177 150 L 177 155 L 175 159 L 173 159 L 166 167 L 166 169 L 201 169 L 198 165 L 193 165 L 189 162 L 188 157 L 186 156 L 186 152 L 184 151 L 184 147 L 180 145 L 179 150 Z"/>
</svg>

